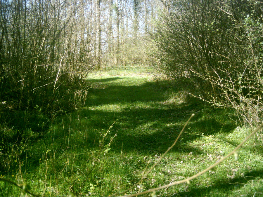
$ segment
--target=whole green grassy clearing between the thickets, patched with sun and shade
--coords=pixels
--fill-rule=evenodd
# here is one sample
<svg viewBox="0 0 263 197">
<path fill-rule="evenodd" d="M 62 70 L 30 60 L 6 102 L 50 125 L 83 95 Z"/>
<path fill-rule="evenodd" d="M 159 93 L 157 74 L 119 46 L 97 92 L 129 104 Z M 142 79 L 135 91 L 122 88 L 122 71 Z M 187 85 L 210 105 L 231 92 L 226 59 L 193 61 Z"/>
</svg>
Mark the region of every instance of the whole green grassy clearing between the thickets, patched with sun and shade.
<svg viewBox="0 0 263 197">
<path fill-rule="evenodd" d="M 202 171 L 250 132 L 235 124 L 233 111 L 182 98 L 178 90 L 183 87 L 155 80 L 152 71 L 134 66 L 92 73 L 85 106 L 56 118 L 42 138 L 25 139 L 26 145 L 18 147 L 22 154 L 14 154 L 4 177 L 27 182 L 30 191 L 44 196 L 120 193 L 140 180 L 195 113 L 177 144 L 142 184 L 122 195 L 131 194 Z M 190 184 L 155 195 L 262 196 L 262 155 L 262 144 L 251 139 L 240 149 L 237 161 L 228 158 Z M 21 193 L 13 185 L 0 184 L 2 196 Z"/>
</svg>

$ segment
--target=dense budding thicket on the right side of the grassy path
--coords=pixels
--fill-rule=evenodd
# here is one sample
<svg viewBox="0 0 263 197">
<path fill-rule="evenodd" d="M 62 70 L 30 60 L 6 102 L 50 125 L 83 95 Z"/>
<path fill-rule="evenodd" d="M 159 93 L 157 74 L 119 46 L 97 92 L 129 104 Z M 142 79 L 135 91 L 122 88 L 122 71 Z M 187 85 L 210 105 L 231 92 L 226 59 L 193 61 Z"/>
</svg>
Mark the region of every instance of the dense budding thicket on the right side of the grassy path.
<svg viewBox="0 0 263 197">
<path fill-rule="evenodd" d="M 258 1 L 172 1 L 152 34 L 158 69 L 190 78 L 193 93 L 233 107 L 250 125 L 262 121 L 263 4 Z"/>
</svg>

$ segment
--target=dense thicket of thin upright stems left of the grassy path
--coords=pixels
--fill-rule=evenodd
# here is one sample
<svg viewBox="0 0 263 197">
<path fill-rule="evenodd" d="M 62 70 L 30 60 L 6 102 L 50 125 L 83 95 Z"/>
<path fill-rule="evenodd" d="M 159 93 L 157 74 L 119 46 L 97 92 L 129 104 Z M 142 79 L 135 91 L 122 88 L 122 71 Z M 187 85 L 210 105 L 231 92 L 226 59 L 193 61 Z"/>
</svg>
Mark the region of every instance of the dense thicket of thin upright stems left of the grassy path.
<svg viewBox="0 0 263 197">
<path fill-rule="evenodd" d="M 79 1 L 1 1 L 3 143 L 21 139 L 24 130 L 44 131 L 49 118 L 85 96 L 84 79 L 97 61 L 91 12 Z"/>
</svg>

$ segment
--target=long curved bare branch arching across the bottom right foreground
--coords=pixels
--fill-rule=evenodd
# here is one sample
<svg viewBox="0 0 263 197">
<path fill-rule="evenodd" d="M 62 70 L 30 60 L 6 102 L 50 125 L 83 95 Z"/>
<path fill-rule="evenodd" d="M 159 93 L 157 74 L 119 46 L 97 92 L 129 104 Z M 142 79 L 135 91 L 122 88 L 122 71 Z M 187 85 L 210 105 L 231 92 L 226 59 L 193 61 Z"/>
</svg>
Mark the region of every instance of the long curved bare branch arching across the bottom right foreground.
<svg viewBox="0 0 263 197">
<path fill-rule="evenodd" d="M 173 186 L 173 185 L 178 185 L 178 184 L 181 184 L 181 183 L 189 183 L 192 179 L 204 174 L 205 172 L 213 169 L 215 166 L 217 166 L 219 163 L 221 163 L 222 161 L 224 161 L 226 158 L 228 158 L 229 156 L 233 155 L 233 154 L 236 154 L 236 151 L 246 142 L 248 141 L 248 139 L 254 135 L 255 133 L 257 133 L 257 131 L 259 131 L 261 128 L 263 127 L 263 123 L 261 125 L 259 125 L 250 135 L 248 135 L 248 137 L 245 138 L 245 140 L 243 140 L 231 153 L 229 153 L 227 156 L 224 156 L 222 159 L 220 159 L 218 162 L 214 163 L 213 165 L 209 166 L 208 168 L 206 168 L 205 170 L 203 170 L 202 172 L 198 172 L 197 174 L 187 178 L 187 179 L 184 179 L 184 180 L 181 180 L 181 181 L 176 181 L 176 182 L 173 182 L 173 183 L 170 183 L 170 184 L 167 184 L 167 185 L 163 185 L 163 186 L 160 186 L 160 187 L 156 187 L 156 188 L 153 188 L 153 189 L 149 189 L 147 191 L 142 191 L 142 192 L 139 192 L 139 193 L 134 193 L 134 194 L 131 194 L 131 195 L 127 195 L 127 196 L 139 196 L 139 195 L 142 195 L 142 194 L 145 194 L 145 193 L 150 193 L 150 192 L 154 192 L 154 191 L 157 191 L 157 190 L 160 190 L 160 189 L 164 189 L 164 188 L 167 188 L 167 187 L 170 187 L 170 186 Z"/>
</svg>

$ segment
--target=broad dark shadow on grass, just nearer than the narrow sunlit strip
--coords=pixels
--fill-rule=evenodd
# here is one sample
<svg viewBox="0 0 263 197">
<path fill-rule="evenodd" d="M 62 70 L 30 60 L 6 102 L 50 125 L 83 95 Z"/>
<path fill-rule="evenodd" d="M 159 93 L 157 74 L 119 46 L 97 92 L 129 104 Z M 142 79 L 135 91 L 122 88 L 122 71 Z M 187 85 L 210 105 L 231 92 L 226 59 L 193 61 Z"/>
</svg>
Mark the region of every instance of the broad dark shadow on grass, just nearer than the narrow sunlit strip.
<svg viewBox="0 0 263 197">
<path fill-rule="evenodd" d="M 180 104 L 167 109 L 129 108 L 120 112 L 83 109 L 80 117 L 86 117 L 91 127 L 105 129 L 116 121 L 110 134 L 111 137 L 115 133 L 117 134 L 111 145 L 115 151 L 122 149 L 125 151 L 163 152 L 172 145 L 184 123 L 190 117 L 189 110 L 195 111 L 199 109 L 198 107 L 193 108 L 191 105 Z M 197 131 L 209 129 L 209 134 L 215 134 L 219 130 L 220 132 L 230 132 L 234 128 L 233 124 L 219 123 L 214 118 L 207 118 L 205 121 L 193 118 L 191 127 Z M 186 144 L 199 137 L 199 135 L 183 134 L 178 143 Z M 184 150 L 189 151 L 190 148 Z M 200 152 L 197 149 L 192 151 Z"/>
</svg>

